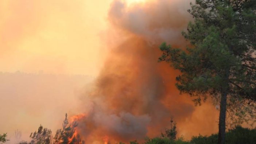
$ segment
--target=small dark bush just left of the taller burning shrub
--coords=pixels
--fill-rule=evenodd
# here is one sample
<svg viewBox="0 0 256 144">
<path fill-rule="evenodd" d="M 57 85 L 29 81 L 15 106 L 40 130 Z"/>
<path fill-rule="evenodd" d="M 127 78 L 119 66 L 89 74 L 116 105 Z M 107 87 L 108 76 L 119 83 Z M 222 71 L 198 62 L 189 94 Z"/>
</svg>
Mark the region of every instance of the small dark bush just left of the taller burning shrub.
<svg viewBox="0 0 256 144">
<path fill-rule="evenodd" d="M 30 134 L 31 144 L 51 144 L 53 136 L 51 130 L 43 128 L 42 125 L 38 128 L 38 131 Z"/>
</svg>

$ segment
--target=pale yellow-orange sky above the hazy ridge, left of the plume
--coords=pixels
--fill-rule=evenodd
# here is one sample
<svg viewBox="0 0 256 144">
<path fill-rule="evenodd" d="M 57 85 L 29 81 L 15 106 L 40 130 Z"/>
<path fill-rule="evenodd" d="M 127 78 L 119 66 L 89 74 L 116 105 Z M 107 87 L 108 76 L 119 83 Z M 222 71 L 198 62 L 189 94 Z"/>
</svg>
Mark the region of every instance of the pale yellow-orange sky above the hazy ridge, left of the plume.
<svg viewBox="0 0 256 144">
<path fill-rule="evenodd" d="M 97 75 L 111 0 L 1 0 L 0 71 Z"/>
</svg>

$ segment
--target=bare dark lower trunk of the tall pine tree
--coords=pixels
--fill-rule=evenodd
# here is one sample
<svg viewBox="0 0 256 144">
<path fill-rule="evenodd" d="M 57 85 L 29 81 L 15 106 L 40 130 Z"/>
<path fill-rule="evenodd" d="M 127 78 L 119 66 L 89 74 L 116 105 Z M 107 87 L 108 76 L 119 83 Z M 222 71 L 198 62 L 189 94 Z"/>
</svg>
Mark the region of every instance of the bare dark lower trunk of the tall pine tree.
<svg viewBox="0 0 256 144">
<path fill-rule="evenodd" d="M 220 117 L 219 117 L 219 133 L 218 133 L 218 144 L 225 143 L 225 134 L 226 134 L 226 101 L 227 93 L 221 93 L 221 102 L 220 102 Z"/>
</svg>

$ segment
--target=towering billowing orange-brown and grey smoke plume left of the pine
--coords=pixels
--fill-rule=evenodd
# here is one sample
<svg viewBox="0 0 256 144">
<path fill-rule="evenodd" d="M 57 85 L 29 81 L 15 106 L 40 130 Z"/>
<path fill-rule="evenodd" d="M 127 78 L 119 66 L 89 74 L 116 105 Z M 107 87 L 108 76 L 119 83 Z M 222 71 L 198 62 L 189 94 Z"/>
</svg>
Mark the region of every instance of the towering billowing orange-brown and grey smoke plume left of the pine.
<svg viewBox="0 0 256 144">
<path fill-rule="evenodd" d="M 109 54 L 90 90 L 81 96 L 84 113 L 74 116 L 88 143 L 143 140 L 159 136 L 174 116 L 178 135 L 217 130 L 217 110 L 209 102 L 195 107 L 175 88 L 178 71 L 159 63 L 162 42 L 184 47 L 191 16 L 187 0 L 155 0 L 128 6 L 115 0 L 105 36 Z"/>
</svg>

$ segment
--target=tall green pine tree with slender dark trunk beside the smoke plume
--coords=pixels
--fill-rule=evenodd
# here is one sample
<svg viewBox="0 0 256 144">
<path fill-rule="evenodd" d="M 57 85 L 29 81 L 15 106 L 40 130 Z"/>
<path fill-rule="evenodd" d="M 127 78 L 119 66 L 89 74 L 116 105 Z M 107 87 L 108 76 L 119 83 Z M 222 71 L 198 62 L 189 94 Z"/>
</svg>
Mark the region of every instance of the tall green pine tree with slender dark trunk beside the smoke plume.
<svg viewBox="0 0 256 144">
<path fill-rule="evenodd" d="M 188 10 L 194 18 L 181 50 L 166 43 L 160 61 L 181 71 L 176 86 L 196 96 L 201 104 L 207 96 L 220 102 L 218 143 L 225 143 L 226 109 L 238 123 L 255 118 L 256 108 L 256 1 L 196 0 Z"/>
</svg>

